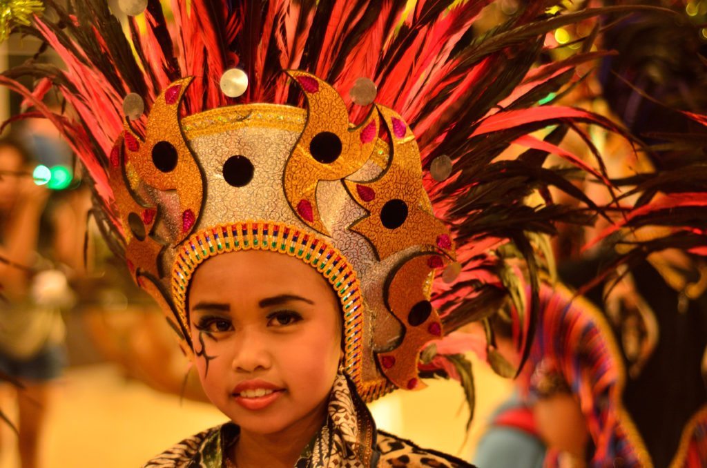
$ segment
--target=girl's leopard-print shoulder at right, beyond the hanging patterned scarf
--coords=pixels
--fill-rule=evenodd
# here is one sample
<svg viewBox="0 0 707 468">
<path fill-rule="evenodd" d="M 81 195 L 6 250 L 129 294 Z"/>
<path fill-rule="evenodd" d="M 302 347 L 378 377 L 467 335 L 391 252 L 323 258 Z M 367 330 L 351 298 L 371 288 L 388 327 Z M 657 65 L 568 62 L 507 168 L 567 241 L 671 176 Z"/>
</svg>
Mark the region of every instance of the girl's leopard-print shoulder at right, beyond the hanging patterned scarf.
<svg viewBox="0 0 707 468">
<path fill-rule="evenodd" d="M 378 431 L 378 467 L 395 468 L 474 468 L 474 465 L 436 450 L 419 447 L 385 431 Z"/>
</svg>

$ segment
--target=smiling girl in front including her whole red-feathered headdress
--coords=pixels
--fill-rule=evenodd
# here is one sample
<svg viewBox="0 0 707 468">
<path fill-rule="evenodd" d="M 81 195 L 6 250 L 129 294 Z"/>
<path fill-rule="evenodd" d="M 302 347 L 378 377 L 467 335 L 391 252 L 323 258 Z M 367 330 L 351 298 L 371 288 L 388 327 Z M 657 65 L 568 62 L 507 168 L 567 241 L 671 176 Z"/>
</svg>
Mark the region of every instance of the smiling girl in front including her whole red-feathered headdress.
<svg viewBox="0 0 707 468">
<path fill-rule="evenodd" d="M 148 467 L 468 466 L 377 432 L 365 402 L 438 376 L 472 399 L 443 337 L 522 294 L 509 252 L 537 275 L 537 233 L 585 221 L 521 202 L 571 187 L 542 168 L 557 134 L 527 135 L 597 120 L 529 108 L 572 68 L 530 73 L 553 2 L 490 42 L 473 28 L 487 3 L 173 1 L 168 24 L 160 2 L 125 2 L 132 44 L 99 0 L 18 19 L 66 70 L 13 76 L 50 76 L 78 119 L 42 107 L 47 81 L 0 83 L 74 145 L 105 233 L 232 421 Z M 511 142 L 533 149 L 497 161 Z"/>
</svg>

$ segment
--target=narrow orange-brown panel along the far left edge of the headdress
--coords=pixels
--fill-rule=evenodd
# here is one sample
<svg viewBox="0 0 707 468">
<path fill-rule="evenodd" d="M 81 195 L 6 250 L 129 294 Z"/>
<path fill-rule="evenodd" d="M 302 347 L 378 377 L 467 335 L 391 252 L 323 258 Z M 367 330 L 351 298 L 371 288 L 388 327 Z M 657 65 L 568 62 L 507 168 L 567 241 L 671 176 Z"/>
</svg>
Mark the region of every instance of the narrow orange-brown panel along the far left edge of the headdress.
<svg viewBox="0 0 707 468">
<path fill-rule="evenodd" d="M 131 184 L 125 175 L 124 163 L 123 139 L 119 138 L 110 153 L 108 181 L 115 194 L 115 204 L 125 233 L 128 269 L 136 283 L 140 284 L 136 276 L 139 270 L 158 276 L 157 259 L 163 246 L 150 237 L 158 209 L 142 206 L 135 200 L 130 189 Z"/>
</svg>

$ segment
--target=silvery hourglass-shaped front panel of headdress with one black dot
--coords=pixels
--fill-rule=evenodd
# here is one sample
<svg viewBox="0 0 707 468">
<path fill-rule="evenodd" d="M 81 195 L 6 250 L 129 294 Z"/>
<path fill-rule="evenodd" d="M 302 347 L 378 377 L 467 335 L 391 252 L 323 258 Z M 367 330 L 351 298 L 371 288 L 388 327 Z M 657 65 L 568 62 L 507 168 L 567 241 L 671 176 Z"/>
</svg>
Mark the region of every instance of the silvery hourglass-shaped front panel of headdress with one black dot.
<svg viewBox="0 0 707 468">
<path fill-rule="evenodd" d="M 294 108 L 239 106 L 237 112 L 219 109 L 205 112 L 199 121 L 182 122 L 189 146 L 209 180 L 197 228 L 243 219 L 276 219 L 306 227 L 290 208 L 282 187 L 285 163 L 305 120 L 303 112 L 290 109 Z M 207 134 L 201 125 L 214 132 Z M 225 170 L 228 175 L 229 161 L 235 159 L 252 168 L 250 179 L 238 182 L 238 186 L 224 176 Z"/>
</svg>

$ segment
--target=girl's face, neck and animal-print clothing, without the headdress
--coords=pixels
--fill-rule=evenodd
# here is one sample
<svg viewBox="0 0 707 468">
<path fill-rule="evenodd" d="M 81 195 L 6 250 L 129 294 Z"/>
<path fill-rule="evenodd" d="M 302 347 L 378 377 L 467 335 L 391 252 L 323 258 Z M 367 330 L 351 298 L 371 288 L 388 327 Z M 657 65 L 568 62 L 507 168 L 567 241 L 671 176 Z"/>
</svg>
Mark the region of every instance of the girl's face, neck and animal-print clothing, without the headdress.
<svg viewBox="0 0 707 468">
<path fill-rule="evenodd" d="M 204 391 L 233 423 L 146 467 L 470 466 L 376 433 L 343 369 L 339 298 L 300 259 L 250 250 L 207 260 L 189 319 Z"/>
</svg>

